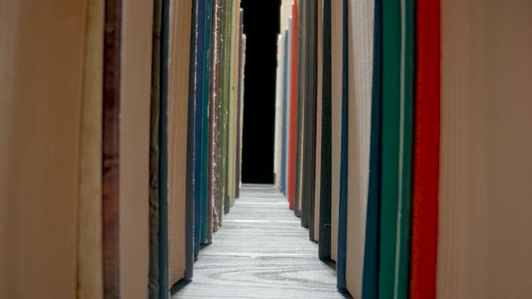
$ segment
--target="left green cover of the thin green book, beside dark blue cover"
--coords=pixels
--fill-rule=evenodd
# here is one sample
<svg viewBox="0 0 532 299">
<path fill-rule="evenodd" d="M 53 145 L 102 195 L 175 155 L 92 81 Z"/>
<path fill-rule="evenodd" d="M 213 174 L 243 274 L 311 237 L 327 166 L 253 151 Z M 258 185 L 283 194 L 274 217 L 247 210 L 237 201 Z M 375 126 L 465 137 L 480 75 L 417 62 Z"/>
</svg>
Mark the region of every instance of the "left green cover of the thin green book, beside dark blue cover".
<svg viewBox="0 0 532 299">
<path fill-rule="evenodd" d="M 395 290 L 399 204 L 401 5 L 382 2 L 382 181 L 379 298 Z"/>
</svg>

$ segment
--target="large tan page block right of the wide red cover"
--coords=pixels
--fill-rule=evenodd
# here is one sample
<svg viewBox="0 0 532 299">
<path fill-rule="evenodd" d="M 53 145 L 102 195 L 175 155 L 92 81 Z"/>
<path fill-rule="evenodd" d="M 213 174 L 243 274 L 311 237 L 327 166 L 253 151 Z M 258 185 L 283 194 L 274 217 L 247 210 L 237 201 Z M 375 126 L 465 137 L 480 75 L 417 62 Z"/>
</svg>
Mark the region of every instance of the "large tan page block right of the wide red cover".
<svg viewBox="0 0 532 299">
<path fill-rule="evenodd" d="M 442 1 L 436 297 L 532 297 L 532 4 Z"/>
</svg>

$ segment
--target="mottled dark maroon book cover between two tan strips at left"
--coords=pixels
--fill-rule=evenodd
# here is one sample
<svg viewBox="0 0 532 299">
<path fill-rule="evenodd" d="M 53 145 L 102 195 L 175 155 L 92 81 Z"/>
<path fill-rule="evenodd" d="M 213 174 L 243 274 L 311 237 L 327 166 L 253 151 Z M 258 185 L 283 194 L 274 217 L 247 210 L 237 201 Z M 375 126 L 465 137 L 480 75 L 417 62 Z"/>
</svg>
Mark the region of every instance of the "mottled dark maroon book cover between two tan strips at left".
<svg viewBox="0 0 532 299">
<path fill-rule="evenodd" d="M 102 249 L 104 297 L 120 298 L 119 144 L 123 5 L 105 3 L 104 100 L 102 111 Z"/>
</svg>

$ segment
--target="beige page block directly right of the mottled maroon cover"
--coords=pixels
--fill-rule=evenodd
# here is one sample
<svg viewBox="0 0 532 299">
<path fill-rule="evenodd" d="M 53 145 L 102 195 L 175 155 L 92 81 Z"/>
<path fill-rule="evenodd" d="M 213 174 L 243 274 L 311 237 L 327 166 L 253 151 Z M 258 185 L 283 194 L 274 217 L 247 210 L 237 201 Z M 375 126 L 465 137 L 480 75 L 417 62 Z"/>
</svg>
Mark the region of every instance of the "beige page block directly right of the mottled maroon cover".
<svg viewBox="0 0 532 299">
<path fill-rule="evenodd" d="M 153 5 L 124 2 L 120 81 L 120 285 L 146 298 L 149 271 L 151 32 Z"/>
</svg>

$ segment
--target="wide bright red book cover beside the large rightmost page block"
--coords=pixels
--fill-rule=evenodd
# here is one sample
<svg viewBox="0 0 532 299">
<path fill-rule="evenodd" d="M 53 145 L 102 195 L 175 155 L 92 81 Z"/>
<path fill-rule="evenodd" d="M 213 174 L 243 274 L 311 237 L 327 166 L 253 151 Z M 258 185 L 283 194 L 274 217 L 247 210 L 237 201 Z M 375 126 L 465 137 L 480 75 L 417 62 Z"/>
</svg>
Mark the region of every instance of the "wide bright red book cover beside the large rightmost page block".
<svg viewBox="0 0 532 299">
<path fill-rule="evenodd" d="M 416 2 L 410 298 L 436 298 L 440 161 L 440 0 Z"/>
</svg>

